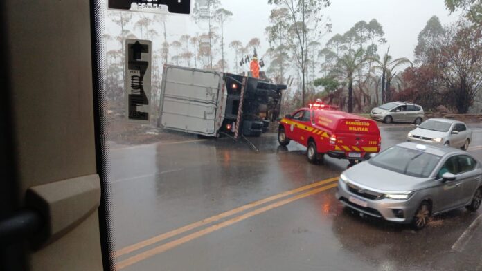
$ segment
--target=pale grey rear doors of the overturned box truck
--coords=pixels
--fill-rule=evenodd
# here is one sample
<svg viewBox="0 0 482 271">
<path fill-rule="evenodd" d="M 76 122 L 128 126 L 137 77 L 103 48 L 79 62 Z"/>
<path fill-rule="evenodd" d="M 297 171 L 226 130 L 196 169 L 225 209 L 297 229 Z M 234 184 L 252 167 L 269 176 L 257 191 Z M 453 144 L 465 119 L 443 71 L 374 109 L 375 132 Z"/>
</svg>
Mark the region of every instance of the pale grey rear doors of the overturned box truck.
<svg viewBox="0 0 482 271">
<path fill-rule="evenodd" d="M 159 99 L 159 126 L 217 136 L 226 95 L 222 73 L 167 65 Z"/>
</svg>

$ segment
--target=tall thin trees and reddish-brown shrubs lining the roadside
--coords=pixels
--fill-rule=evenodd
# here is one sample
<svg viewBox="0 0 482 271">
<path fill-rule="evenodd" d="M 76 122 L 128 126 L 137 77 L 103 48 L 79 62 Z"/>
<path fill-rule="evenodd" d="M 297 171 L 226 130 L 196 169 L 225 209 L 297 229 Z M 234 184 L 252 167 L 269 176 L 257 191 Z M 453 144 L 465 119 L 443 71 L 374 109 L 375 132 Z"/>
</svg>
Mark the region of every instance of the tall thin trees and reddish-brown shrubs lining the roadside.
<svg viewBox="0 0 482 271">
<path fill-rule="evenodd" d="M 272 7 L 265 37 L 226 40 L 235 12 L 222 1 L 195 6 L 192 21 L 200 32 L 168 35 L 165 15 L 108 11 L 105 89 L 111 109 L 124 104 L 125 39 L 157 41 L 152 54 L 152 110 L 157 111 L 164 64 L 247 73 L 256 50 L 263 76 L 288 86 L 283 113 L 321 98 L 348 112 L 367 113 L 393 100 L 416 102 L 425 111 L 481 113 L 481 1 L 445 0 L 449 12 L 461 12 L 444 26 L 431 17 L 420 26 L 414 59 L 394 58 L 382 24 L 358 21 L 333 33 L 328 0 L 267 0 Z M 196 1 L 198 3 L 199 1 Z M 261 44 L 267 50 L 260 52 Z M 381 46 L 387 50 L 379 50 Z"/>
</svg>

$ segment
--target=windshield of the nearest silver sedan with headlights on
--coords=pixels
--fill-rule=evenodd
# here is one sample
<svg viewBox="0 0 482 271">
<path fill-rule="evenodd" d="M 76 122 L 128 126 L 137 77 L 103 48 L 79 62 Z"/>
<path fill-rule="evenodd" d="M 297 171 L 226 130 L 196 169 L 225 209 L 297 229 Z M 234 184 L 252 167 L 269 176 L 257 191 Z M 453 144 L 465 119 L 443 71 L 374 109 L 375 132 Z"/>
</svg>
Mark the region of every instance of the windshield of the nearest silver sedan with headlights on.
<svg viewBox="0 0 482 271">
<path fill-rule="evenodd" d="M 370 160 L 372 165 L 413 177 L 427 178 L 440 156 L 403 147 L 391 147 Z"/>
</svg>

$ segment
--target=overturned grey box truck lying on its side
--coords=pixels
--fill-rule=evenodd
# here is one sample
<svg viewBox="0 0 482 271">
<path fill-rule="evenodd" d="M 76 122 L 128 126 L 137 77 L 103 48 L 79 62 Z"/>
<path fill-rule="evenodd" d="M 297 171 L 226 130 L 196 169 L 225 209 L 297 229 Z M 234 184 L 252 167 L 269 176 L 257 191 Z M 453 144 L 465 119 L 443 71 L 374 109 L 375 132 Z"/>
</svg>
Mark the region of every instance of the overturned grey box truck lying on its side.
<svg viewBox="0 0 482 271">
<path fill-rule="evenodd" d="M 166 65 L 158 126 L 209 137 L 260 136 L 278 118 L 284 89 L 268 80 Z"/>
</svg>

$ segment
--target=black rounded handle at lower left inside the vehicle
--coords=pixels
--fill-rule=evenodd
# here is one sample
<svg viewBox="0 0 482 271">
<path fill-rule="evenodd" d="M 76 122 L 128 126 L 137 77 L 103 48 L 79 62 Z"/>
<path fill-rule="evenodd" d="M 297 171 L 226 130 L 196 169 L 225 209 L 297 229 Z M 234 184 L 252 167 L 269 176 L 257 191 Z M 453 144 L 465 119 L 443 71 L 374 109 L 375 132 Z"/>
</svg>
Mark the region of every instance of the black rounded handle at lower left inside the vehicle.
<svg viewBox="0 0 482 271">
<path fill-rule="evenodd" d="M 34 236 L 42 227 L 39 213 L 24 209 L 0 221 L 0 247 Z"/>
</svg>

